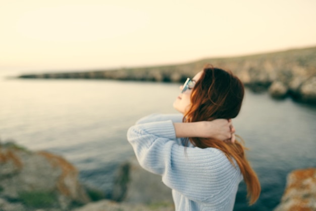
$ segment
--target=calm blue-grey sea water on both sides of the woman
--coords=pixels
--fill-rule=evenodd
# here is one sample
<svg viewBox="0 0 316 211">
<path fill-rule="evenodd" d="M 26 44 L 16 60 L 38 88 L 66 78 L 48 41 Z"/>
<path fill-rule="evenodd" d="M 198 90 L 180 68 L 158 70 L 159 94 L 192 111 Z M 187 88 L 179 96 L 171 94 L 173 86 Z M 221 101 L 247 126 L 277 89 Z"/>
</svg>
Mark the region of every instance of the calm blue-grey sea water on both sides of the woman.
<svg viewBox="0 0 316 211">
<path fill-rule="evenodd" d="M 1 74 L 0 74 L 1 75 Z M 32 150 L 65 157 L 83 182 L 111 190 L 117 166 L 133 155 L 127 129 L 151 113 L 176 113 L 179 84 L 109 80 L 18 80 L 0 78 L 0 137 Z M 247 207 L 240 185 L 235 211 L 272 210 L 286 176 L 316 167 L 316 108 L 246 92 L 233 120 L 245 140 L 262 192 Z"/>
</svg>

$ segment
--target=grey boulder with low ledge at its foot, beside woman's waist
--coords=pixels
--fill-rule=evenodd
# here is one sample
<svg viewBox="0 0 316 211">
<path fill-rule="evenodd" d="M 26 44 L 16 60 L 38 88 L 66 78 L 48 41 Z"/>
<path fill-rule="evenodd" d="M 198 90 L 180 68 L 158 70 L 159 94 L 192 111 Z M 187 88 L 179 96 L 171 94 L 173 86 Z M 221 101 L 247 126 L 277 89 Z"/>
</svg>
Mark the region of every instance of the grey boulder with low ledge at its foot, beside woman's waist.
<svg viewBox="0 0 316 211">
<path fill-rule="evenodd" d="M 72 211 L 173 211 L 171 189 L 162 177 L 142 169 L 135 156 L 120 165 L 111 200 L 90 202 Z"/>
</svg>

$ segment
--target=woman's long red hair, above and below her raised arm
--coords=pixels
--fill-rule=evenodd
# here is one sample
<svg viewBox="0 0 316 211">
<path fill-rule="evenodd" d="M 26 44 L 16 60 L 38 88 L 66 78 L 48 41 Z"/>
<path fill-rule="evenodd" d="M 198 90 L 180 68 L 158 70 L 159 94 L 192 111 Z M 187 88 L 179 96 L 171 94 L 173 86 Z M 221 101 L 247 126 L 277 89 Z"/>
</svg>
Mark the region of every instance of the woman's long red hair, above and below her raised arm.
<svg viewBox="0 0 316 211">
<path fill-rule="evenodd" d="M 198 122 L 235 118 L 241 109 L 243 97 L 244 86 L 236 76 L 229 71 L 207 65 L 194 85 L 191 106 L 184 114 L 183 121 Z M 189 141 L 199 148 L 213 147 L 222 150 L 232 165 L 235 165 L 233 158 L 246 183 L 249 204 L 253 204 L 258 199 L 261 191 L 260 183 L 247 161 L 244 152 L 246 148 L 240 141 L 225 143 L 220 140 L 197 137 L 189 138 Z"/>
</svg>

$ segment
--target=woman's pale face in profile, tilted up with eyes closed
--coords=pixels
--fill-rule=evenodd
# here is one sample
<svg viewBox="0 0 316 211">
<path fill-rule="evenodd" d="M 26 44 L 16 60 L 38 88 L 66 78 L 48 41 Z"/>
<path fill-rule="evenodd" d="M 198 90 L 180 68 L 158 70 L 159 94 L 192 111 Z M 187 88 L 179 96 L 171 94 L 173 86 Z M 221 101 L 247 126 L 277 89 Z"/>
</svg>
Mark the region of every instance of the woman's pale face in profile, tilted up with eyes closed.
<svg viewBox="0 0 316 211">
<path fill-rule="evenodd" d="M 179 94 L 176 100 L 173 103 L 173 108 L 175 108 L 178 112 L 184 114 L 188 109 L 190 109 L 191 104 L 191 93 L 192 88 L 194 87 L 196 81 L 198 81 L 202 75 L 203 71 L 198 72 L 192 79 L 192 84 L 189 84 L 186 90 Z M 180 90 L 184 87 L 180 86 Z"/>
</svg>

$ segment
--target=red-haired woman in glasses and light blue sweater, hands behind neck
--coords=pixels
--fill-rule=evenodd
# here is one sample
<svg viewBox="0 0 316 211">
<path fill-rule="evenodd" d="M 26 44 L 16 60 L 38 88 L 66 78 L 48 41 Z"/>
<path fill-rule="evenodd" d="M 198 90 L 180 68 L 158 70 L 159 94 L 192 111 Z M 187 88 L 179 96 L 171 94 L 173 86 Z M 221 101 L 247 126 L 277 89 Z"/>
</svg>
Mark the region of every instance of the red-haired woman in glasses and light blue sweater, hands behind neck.
<svg viewBox="0 0 316 211">
<path fill-rule="evenodd" d="M 240 111 L 243 84 L 206 66 L 180 89 L 173 105 L 182 115 L 150 115 L 128 130 L 139 164 L 162 176 L 176 210 L 231 211 L 242 179 L 253 204 L 260 184 L 230 120 Z"/>
</svg>

